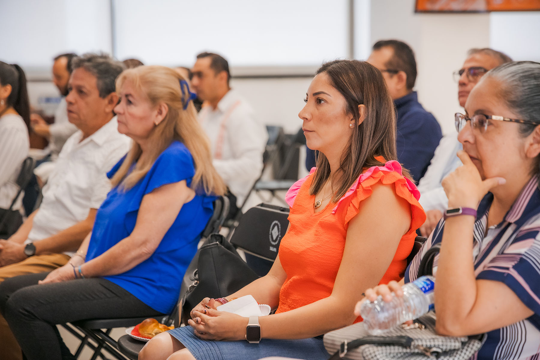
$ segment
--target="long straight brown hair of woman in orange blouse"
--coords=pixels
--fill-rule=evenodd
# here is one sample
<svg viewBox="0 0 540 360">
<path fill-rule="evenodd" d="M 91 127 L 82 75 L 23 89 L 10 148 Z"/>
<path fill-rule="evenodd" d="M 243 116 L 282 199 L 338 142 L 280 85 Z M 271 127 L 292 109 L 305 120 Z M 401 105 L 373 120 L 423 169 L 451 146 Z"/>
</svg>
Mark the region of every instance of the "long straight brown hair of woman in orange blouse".
<svg viewBox="0 0 540 360">
<path fill-rule="evenodd" d="M 358 105 L 365 106 L 365 119 L 353 128 L 348 145 L 341 155 L 337 185 L 332 201 L 337 202 L 359 178 L 363 169 L 384 165 L 384 161 L 397 160 L 396 115 L 394 103 L 379 70 L 359 60 L 334 60 L 322 64 L 316 74 L 326 73 L 330 85 L 338 90 L 347 103 L 347 114 L 359 119 Z M 403 169 L 403 175 L 410 178 Z M 330 164 L 319 153 L 317 170 L 309 194 L 318 193 L 330 176 Z"/>
</svg>

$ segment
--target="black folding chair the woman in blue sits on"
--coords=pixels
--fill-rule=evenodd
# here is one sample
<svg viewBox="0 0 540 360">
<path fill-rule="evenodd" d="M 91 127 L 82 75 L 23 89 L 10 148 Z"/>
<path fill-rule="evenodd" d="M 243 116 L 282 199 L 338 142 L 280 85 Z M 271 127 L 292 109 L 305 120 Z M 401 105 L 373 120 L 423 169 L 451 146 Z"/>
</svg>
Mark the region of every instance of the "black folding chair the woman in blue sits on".
<svg viewBox="0 0 540 360">
<path fill-rule="evenodd" d="M 219 232 L 221 225 L 223 224 L 225 217 L 229 210 L 228 199 L 225 196 L 220 196 L 214 201 L 214 213 L 212 214 L 210 220 L 201 234 L 201 239 L 206 239 L 210 234 Z M 183 294 L 183 293 L 180 293 Z M 163 316 L 156 317 L 161 323 L 171 324 L 176 317 L 178 307 L 174 307 L 173 311 L 170 314 L 163 314 Z M 102 355 L 102 350 L 106 350 L 114 356 L 114 358 L 119 360 L 125 360 L 125 356 L 122 355 L 117 349 L 117 342 L 110 336 L 110 332 L 114 328 L 125 328 L 131 327 L 139 324 L 143 320 L 148 318 L 145 317 L 134 317 L 134 318 L 116 318 L 116 319 L 91 319 L 91 320 L 80 320 L 72 322 L 71 324 L 63 324 L 62 326 L 71 332 L 71 334 L 81 340 L 81 343 L 75 352 L 75 357 L 78 358 L 80 353 L 85 346 L 90 347 L 94 350 L 94 354 L 91 360 L 97 359 L 97 357 L 105 357 Z M 103 331 L 102 329 L 106 329 Z M 79 330 L 84 335 L 80 335 Z M 97 345 L 93 345 L 89 342 L 92 339 L 96 342 Z"/>
</svg>

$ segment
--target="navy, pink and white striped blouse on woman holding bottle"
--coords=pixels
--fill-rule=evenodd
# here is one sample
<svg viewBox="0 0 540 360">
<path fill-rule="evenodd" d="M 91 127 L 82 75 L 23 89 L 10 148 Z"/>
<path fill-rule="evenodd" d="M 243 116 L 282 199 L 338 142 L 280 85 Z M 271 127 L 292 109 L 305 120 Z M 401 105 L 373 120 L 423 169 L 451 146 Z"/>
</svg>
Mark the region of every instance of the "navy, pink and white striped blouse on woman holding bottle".
<svg viewBox="0 0 540 360">
<path fill-rule="evenodd" d="M 536 360 L 540 358 L 540 189 L 533 176 L 501 223 L 484 236 L 493 195 L 488 193 L 478 206 L 474 228 L 476 279 L 501 281 L 534 311 L 531 317 L 488 332 L 477 359 Z M 417 277 L 423 254 L 441 242 L 444 219 L 410 263 L 405 282 Z M 438 256 L 433 271 L 436 274 Z"/>
</svg>

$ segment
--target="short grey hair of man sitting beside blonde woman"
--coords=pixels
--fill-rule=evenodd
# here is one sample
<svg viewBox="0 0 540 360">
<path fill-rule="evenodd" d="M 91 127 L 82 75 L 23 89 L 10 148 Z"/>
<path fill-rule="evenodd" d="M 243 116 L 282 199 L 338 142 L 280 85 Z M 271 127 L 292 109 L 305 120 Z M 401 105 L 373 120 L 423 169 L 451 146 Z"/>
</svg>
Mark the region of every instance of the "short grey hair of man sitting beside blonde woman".
<svg viewBox="0 0 540 360">
<path fill-rule="evenodd" d="M 105 53 L 86 53 L 73 58 L 71 65 L 73 70 L 82 67 L 96 77 L 99 97 L 101 98 L 116 91 L 116 78 L 125 69 L 124 64 Z"/>
</svg>

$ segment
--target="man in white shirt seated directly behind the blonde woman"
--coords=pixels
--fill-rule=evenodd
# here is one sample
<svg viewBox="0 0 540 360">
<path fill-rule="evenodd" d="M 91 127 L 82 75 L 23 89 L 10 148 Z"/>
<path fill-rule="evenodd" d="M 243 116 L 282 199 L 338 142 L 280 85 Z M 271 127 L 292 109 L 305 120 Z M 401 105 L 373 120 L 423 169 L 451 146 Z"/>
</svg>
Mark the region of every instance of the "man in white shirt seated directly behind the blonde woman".
<svg viewBox="0 0 540 360">
<path fill-rule="evenodd" d="M 197 55 L 191 84 L 204 101 L 199 120 L 210 138 L 213 165 L 231 193 L 234 216 L 261 174 L 268 135 L 246 99 L 229 86 L 230 78 L 226 59 L 210 52 Z"/>
</svg>

